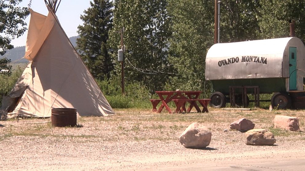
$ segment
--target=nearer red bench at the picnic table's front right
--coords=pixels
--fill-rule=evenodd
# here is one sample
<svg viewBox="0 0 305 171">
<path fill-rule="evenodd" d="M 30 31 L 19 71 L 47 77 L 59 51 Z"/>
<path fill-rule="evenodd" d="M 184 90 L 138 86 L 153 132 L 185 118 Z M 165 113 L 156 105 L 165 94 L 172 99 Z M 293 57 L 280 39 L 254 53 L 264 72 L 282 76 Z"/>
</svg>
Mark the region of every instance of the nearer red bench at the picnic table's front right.
<svg viewBox="0 0 305 171">
<path fill-rule="evenodd" d="M 178 112 L 191 112 L 192 108 L 195 107 L 197 112 L 209 112 L 208 111 L 208 103 L 211 101 L 211 99 L 172 99 L 172 101 L 176 104 L 176 113 Z M 199 106 L 196 104 L 196 101 L 199 102 L 199 104 L 203 107 L 202 110 L 200 110 Z M 185 104 L 186 102 L 190 103 L 191 105 L 188 107 L 188 110 L 185 111 Z M 181 110 L 182 108 L 182 110 Z"/>
</svg>

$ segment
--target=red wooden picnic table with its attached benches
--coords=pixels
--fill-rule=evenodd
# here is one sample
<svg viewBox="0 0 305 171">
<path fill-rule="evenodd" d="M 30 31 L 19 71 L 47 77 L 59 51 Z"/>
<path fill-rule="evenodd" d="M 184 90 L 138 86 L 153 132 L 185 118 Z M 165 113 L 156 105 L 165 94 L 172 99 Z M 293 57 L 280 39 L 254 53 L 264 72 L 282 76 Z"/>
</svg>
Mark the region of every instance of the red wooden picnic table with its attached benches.
<svg viewBox="0 0 305 171">
<path fill-rule="evenodd" d="M 152 102 L 152 111 L 160 113 L 163 108 L 172 113 L 172 110 L 168 107 L 168 103 L 171 101 L 175 102 L 176 105 L 176 113 L 178 112 L 190 112 L 193 107 L 196 108 L 197 112 L 208 112 L 208 102 L 211 99 L 198 99 L 200 93 L 202 91 L 156 91 L 160 99 L 151 99 Z M 161 106 L 159 109 L 156 109 L 156 106 L 161 101 Z M 197 105 L 196 101 L 203 107 L 202 111 L 200 110 L 199 106 Z M 185 108 L 186 102 L 190 103 L 188 110 Z"/>
</svg>

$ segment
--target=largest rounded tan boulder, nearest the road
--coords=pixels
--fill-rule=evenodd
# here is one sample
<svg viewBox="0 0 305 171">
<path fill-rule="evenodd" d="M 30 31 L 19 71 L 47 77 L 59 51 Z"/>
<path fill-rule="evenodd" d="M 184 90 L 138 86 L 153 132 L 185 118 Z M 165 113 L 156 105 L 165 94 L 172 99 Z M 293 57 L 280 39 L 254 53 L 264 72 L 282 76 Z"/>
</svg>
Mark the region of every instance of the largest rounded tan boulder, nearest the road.
<svg viewBox="0 0 305 171">
<path fill-rule="evenodd" d="M 190 124 L 179 137 L 179 142 L 186 148 L 204 148 L 211 142 L 212 132 L 195 122 Z"/>
</svg>

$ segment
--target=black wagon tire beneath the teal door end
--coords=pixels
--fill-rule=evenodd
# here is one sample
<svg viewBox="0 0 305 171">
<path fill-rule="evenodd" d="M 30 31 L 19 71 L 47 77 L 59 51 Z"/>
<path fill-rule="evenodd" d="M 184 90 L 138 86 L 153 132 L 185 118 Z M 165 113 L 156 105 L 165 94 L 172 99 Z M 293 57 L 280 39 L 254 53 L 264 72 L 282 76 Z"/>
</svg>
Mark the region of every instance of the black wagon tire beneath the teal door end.
<svg viewBox="0 0 305 171">
<path fill-rule="evenodd" d="M 271 97 L 272 108 L 287 109 L 291 108 L 291 98 L 287 93 L 277 92 Z"/>
</svg>

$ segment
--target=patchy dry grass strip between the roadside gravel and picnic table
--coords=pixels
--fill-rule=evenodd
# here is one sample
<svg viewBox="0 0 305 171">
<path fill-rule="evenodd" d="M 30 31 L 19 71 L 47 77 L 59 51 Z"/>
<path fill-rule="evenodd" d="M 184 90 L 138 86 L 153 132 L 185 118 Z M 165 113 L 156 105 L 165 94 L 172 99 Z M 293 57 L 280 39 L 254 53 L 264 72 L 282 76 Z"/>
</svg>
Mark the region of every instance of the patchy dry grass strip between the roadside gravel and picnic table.
<svg viewBox="0 0 305 171">
<path fill-rule="evenodd" d="M 288 115 L 299 117 L 299 124 L 304 131 L 305 110 L 265 110 L 252 108 L 251 111 L 222 110 L 209 108 L 209 113 L 172 113 L 166 110 L 161 113 L 151 112 L 150 109 L 115 109 L 116 115 L 109 117 L 80 117 L 77 127 L 53 127 L 50 119 L 7 120 L 2 122 L 2 135 L 0 141 L 12 136 L 26 137 L 51 137 L 55 141 L 72 138 L 73 141 L 168 141 L 176 140 L 189 124 L 193 122 L 203 123 L 215 132 L 216 135 L 228 135 L 223 133 L 230 123 L 240 118 L 247 118 L 255 123 L 255 128 L 267 128 L 276 137 L 297 136 L 303 139 L 304 132 L 283 131 L 273 128 L 275 115 Z M 39 121 L 39 122 L 38 122 Z M 231 136 L 231 135 L 230 135 Z M 291 139 L 289 138 L 289 139 Z M 82 140 L 83 139 L 83 140 Z M 231 140 L 230 140 L 231 141 Z"/>
</svg>

